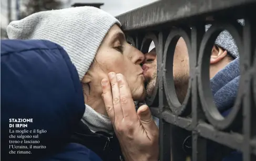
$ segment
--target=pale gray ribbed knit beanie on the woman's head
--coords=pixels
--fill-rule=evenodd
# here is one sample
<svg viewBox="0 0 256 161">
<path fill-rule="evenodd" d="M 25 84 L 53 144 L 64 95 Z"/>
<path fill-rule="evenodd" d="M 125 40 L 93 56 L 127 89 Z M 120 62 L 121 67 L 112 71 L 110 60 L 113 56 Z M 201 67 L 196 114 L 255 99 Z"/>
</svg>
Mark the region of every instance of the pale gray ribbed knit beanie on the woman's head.
<svg viewBox="0 0 256 161">
<path fill-rule="evenodd" d="M 109 29 L 120 22 L 95 7 L 41 11 L 7 26 L 9 39 L 44 39 L 61 45 L 83 79 Z"/>
</svg>

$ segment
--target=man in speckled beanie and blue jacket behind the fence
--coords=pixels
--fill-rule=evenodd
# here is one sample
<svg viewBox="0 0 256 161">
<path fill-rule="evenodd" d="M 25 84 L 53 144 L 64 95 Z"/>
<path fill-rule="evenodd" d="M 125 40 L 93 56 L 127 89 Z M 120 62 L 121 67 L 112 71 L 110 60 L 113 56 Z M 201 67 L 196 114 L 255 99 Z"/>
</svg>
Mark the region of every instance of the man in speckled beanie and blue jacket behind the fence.
<svg viewBox="0 0 256 161">
<path fill-rule="evenodd" d="M 244 25 L 243 20 L 239 20 L 239 23 L 240 25 Z M 210 25 L 206 26 L 206 30 L 209 28 Z M 146 61 L 142 68 L 144 69 L 144 76 L 148 81 L 146 86 L 147 94 L 150 96 L 155 88 L 157 77 L 157 56 L 155 48 L 146 54 Z M 238 48 L 228 31 L 220 33 L 212 48 L 209 77 L 211 79 L 214 102 L 222 116 L 227 116 L 237 96 L 240 77 Z M 186 97 L 189 83 L 189 57 L 186 42 L 183 38 L 180 38 L 176 45 L 173 57 L 173 78 L 177 97 L 182 103 Z M 223 98 L 223 96 L 226 97 Z M 207 160 L 217 159 L 214 154 L 216 154 L 218 147 L 213 146 L 213 144 L 208 146 Z M 238 156 L 235 159 L 239 160 L 241 158 L 241 155 Z M 229 157 L 225 157 L 224 160 L 234 160 L 233 157 Z"/>
</svg>

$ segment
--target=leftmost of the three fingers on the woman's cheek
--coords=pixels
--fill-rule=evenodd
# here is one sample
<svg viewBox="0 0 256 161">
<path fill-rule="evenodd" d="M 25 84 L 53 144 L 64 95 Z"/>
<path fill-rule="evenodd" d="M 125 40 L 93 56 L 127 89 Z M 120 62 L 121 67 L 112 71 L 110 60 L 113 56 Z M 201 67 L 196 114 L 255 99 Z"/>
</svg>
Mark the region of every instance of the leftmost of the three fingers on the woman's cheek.
<svg viewBox="0 0 256 161">
<path fill-rule="evenodd" d="M 106 111 L 108 113 L 108 116 L 109 116 L 111 122 L 114 123 L 115 122 L 115 111 L 114 111 L 114 106 L 113 106 L 111 86 L 110 86 L 110 82 L 108 81 L 108 79 L 103 78 L 101 80 L 101 86 L 102 86 L 102 90 L 103 90 L 102 97 L 103 97 L 103 100 L 105 103 Z"/>
</svg>

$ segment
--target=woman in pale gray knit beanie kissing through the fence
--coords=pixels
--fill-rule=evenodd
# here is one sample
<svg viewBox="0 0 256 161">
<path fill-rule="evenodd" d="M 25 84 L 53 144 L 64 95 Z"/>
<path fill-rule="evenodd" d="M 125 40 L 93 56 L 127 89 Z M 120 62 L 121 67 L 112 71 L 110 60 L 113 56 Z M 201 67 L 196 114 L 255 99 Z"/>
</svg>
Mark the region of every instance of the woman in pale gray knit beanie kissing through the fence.
<svg viewBox="0 0 256 161">
<path fill-rule="evenodd" d="M 103 160 L 119 160 L 118 141 L 115 137 L 112 138 L 112 134 L 114 129 L 115 133 L 119 132 L 121 123 L 108 118 L 105 103 L 101 97 L 103 94 L 101 80 L 103 78 L 108 80 L 111 76 L 115 77 L 115 73 L 121 73 L 127 79 L 132 99 L 145 98 L 144 76 L 140 67 L 144 61 L 144 55 L 126 42 L 125 35 L 120 29 L 120 22 L 98 8 L 76 7 L 42 11 L 22 20 L 13 21 L 7 27 L 7 34 L 10 39 L 49 40 L 66 50 L 78 72 L 86 104 L 79 128 L 76 129 L 70 142 L 87 146 Z M 115 86 L 112 85 L 112 87 Z M 114 104 L 118 103 L 120 97 L 116 96 L 112 101 Z M 130 108 L 135 111 L 134 105 Z M 136 112 L 132 114 L 138 118 Z M 130 124 L 127 129 L 129 132 L 131 128 L 136 130 L 137 127 L 134 125 L 136 123 L 138 125 L 140 120 L 126 121 Z M 145 143 L 138 142 L 137 136 L 127 141 L 131 135 L 125 134 L 124 126 L 121 127 L 121 132 L 127 137 L 117 135 L 124 158 L 141 160 L 141 156 L 146 156 L 145 160 L 157 160 L 158 153 L 150 153 L 152 148 L 158 148 L 158 133 L 150 140 L 140 124 L 139 130 L 141 130 L 141 137 L 146 138 Z M 150 126 L 152 131 L 157 131 L 155 124 Z M 139 139 L 141 137 L 138 136 Z M 127 142 L 133 144 L 126 144 Z M 138 150 L 132 152 L 131 156 L 128 154 L 129 149 Z"/>
</svg>

